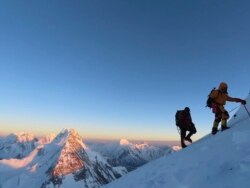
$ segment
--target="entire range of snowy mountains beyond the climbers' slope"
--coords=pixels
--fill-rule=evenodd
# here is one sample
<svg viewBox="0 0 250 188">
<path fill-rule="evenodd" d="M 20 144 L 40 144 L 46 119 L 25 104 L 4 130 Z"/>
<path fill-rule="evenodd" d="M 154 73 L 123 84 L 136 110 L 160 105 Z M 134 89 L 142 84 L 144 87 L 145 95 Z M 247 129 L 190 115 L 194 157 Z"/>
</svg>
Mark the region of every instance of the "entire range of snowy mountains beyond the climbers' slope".
<svg viewBox="0 0 250 188">
<path fill-rule="evenodd" d="M 126 139 L 87 146 L 74 129 L 41 139 L 10 134 L 0 139 L 0 187 L 100 187 L 172 152 Z"/>
</svg>

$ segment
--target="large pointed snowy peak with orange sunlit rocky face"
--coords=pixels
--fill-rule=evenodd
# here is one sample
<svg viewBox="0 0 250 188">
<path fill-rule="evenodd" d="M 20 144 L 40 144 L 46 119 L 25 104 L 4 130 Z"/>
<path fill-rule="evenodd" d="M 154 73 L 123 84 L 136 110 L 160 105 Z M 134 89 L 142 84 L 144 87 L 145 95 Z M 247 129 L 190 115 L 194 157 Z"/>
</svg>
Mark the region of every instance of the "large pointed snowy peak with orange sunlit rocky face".
<svg viewBox="0 0 250 188">
<path fill-rule="evenodd" d="M 99 187 L 127 173 L 91 151 L 75 130 L 62 130 L 23 159 L 0 160 L 0 187 Z"/>
</svg>

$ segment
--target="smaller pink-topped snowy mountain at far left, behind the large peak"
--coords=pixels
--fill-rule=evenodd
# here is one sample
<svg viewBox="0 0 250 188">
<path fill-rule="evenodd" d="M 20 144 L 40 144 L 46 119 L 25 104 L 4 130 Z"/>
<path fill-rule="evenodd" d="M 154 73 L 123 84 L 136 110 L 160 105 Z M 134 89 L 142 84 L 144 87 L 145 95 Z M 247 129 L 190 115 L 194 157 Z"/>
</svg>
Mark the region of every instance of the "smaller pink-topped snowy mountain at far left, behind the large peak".
<svg viewBox="0 0 250 188">
<path fill-rule="evenodd" d="M 29 133 L 14 133 L 0 139 L 0 159 L 26 157 L 36 147 L 37 138 Z"/>
</svg>

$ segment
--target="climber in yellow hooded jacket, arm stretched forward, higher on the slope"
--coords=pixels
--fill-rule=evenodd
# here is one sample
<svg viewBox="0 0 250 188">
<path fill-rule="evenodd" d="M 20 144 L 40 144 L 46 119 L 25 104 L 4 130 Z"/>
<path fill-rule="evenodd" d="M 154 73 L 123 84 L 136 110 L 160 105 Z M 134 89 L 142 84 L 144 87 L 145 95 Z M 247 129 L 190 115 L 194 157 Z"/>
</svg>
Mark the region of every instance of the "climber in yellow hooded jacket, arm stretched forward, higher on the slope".
<svg viewBox="0 0 250 188">
<path fill-rule="evenodd" d="M 229 118 L 228 112 L 225 110 L 224 105 L 226 101 L 240 102 L 245 105 L 246 101 L 239 98 L 230 97 L 227 93 L 227 84 L 221 82 L 218 89 L 211 92 L 210 98 L 212 99 L 212 110 L 215 114 L 215 119 L 212 128 L 212 134 L 216 134 L 218 131 L 219 123 L 221 122 L 221 131 L 228 129 L 227 119 Z"/>
</svg>

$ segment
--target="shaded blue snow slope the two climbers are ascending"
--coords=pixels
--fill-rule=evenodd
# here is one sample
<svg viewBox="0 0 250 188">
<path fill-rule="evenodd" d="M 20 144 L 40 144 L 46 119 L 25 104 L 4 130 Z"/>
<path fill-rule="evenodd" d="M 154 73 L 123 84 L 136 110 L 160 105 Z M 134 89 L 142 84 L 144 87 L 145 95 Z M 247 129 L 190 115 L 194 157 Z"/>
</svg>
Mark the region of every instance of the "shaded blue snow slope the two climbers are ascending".
<svg viewBox="0 0 250 188">
<path fill-rule="evenodd" d="M 247 98 L 250 110 L 250 97 Z M 243 106 L 231 129 L 208 134 L 187 148 L 150 162 L 104 188 L 250 187 L 250 117 Z M 211 122 L 212 123 L 212 122 Z"/>
</svg>

